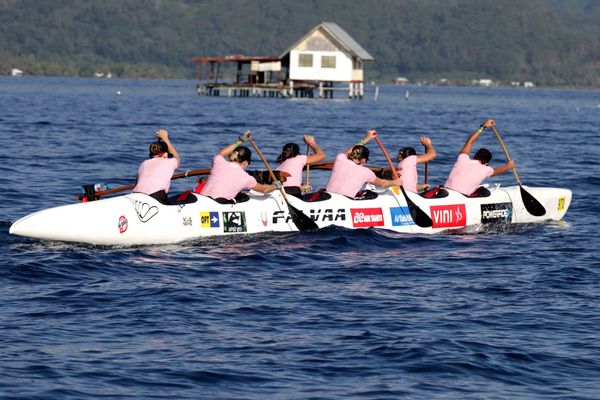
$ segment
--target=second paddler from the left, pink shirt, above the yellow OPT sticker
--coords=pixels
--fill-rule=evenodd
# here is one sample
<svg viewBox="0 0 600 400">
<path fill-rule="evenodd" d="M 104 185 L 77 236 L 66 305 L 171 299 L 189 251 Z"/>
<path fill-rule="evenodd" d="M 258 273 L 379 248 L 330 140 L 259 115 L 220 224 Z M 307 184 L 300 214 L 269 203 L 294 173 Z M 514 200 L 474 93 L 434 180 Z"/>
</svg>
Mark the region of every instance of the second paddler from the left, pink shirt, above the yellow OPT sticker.
<svg viewBox="0 0 600 400">
<path fill-rule="evenodd" d="M 245 171 L 252 160 L 252 152 L 241 145 L 251 137 L 252 134 L 246 132 L 232 144 L 223 147 L 213 157 L 206 184 L 201 190 L 194 189 L 194 192 L 210 197 L 218 203 L 230 204 L 248 199 L 248 195 L 241 192 L 244 189 L 261 193 L 270 193 L 277 189 L 278 185 L 281 185 L 280 182 L 273 185 L 261 184 Z"/>
</svg>

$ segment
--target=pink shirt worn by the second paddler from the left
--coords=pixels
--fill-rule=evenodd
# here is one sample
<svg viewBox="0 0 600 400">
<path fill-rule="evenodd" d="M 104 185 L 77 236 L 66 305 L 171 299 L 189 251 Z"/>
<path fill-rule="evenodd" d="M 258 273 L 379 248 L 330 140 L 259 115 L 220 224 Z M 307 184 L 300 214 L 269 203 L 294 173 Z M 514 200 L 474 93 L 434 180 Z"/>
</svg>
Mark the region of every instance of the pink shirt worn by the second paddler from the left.
<svg viewBox="0 0 600 400">
<path fill-rule="evenodd" d="M 239 163 L 227 161 L 225 157 L 216 155 L 201 194 L 213 199 L 223 197 L 231 200 L 241 190 L 251 189 L 257 183 Z"/>
</svg>

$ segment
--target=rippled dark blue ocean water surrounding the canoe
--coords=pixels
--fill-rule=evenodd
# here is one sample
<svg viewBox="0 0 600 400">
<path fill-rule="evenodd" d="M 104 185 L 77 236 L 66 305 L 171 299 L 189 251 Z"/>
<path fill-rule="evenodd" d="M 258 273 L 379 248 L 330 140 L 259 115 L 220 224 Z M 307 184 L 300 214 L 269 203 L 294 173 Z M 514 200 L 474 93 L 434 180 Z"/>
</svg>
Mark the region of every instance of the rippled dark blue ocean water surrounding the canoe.
<svg viewBox="0 0 600 400">
<path fill-rule="evenodd" d="M 373 92 L 208 98 L 192 81 L 0 78 L 0 398 L 600 398 L 600 91 Z M 573 191 L 564 221 L 133 248 L 8 234 L 28 213 L 75 202 L 82 184 L 132 183 L 157 128 L 180 171 L 209 167 L 247 129 L 270 160 L 303 134 L 328 159 L 368 129 L 392 154 L 428 135 L 429 181 L 441 184 L 487 117 L 524 184 Z M 493 134 L 477 145 L 503 162 Z M 370 163 L 384 161 L 372 146 Z M 326 180 L 311 173 L 314 186 Z"/>
</svg>

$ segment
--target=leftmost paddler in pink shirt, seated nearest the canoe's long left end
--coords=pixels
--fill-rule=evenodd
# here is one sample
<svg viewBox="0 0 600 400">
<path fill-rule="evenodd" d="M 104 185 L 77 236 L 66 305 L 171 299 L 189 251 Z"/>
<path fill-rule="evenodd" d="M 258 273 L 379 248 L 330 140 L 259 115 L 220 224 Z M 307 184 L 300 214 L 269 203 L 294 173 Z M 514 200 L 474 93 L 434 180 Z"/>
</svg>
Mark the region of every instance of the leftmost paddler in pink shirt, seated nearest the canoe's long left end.
<svg viewBox="0 0 600 400">
<path fill-rule="evenodd" d="M 167 204 L 171 177 L 179 167 L 181 159 L 166 130 L 159 129 L 155 135 L 158 140 L 150 144 L 150 158 L 138 168 L 133 192 L 147 194 L 160 203 Z"/>
</svg>

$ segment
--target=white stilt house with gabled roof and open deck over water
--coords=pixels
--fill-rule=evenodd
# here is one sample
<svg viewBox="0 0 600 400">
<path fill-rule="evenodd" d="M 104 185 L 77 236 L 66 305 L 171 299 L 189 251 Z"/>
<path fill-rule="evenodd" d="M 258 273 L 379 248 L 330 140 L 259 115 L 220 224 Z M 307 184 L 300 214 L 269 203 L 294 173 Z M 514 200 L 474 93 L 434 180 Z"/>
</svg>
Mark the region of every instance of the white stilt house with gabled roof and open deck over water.
<svg viewBox="0 0 600 400">
<path fill-rule="evenodd" d="M 365 61 L 373 57 L 333 22 L 322 22 L 280 56 L 196 57 L 196 88 L 207 96 L 320 97 L 364 95 Z M 236 65 L 222 79 L 222 64 Z M 231 68 L 229 68 L 231 70 Z"/>
</svg>

